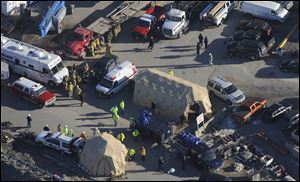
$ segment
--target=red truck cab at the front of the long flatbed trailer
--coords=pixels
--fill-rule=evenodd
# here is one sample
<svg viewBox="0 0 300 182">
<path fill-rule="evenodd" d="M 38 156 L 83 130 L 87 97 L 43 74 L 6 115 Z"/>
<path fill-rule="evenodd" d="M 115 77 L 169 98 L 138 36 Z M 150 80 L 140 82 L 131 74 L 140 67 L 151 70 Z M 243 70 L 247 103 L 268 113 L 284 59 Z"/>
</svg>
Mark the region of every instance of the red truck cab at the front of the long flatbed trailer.
<svg viewBox="0 0 300 182">
<path fill-rule="evenodd" d="M 92 32 L 83 27 L 77 27 L 71 33 L 67 43 L 67 54 L 84 58 L 86 56 L 86 46 L 92 40 Z"/>
</svg>

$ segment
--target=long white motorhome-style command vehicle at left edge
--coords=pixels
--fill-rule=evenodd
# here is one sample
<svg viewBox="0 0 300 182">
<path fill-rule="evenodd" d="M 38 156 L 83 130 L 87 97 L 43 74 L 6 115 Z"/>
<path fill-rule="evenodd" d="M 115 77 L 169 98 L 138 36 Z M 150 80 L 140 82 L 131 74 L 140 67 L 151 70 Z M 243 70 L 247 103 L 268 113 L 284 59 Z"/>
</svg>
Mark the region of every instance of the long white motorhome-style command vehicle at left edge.
<svg viewBox="0 0 300 182">
<path fill-rule="evenodd" d="M 51 87 L 62 83 L 63 77 L 69 75 L 60 56 L 2 35 L 1 58 L 13 72 Z"/>
</svg>

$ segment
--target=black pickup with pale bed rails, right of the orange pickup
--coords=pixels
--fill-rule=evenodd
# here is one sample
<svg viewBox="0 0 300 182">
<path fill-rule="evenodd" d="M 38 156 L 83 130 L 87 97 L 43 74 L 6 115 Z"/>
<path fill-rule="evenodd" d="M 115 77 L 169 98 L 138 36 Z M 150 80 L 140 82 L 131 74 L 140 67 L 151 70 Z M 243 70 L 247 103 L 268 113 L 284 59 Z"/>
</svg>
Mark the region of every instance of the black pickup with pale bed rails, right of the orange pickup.
<svg viewBox="0 0 300 182">
<path fill-rule="evenodd" d="M 285 107 L 282 104 L 274 103 L 263 111 L 263 118 L 267 121 L 277 121 L 284 113 L 291 110 L 290 107 Z"/>
</svg>

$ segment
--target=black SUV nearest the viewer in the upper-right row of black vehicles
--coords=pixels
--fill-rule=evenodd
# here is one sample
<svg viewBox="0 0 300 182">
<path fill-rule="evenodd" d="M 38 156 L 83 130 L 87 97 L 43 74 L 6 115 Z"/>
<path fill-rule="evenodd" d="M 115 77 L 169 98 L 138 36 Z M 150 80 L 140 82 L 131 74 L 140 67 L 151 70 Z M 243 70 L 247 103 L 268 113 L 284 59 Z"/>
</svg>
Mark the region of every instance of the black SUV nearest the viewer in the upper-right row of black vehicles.
<svg viewBox="0 0 300 182">
<path fill-rule="evenodd" d="M 267 48 L 263 42 L 258 40 L 231 41 L 227 44 L 229 56 L 240 56 L 256 60 L 267 54 Z"/>
</svg>

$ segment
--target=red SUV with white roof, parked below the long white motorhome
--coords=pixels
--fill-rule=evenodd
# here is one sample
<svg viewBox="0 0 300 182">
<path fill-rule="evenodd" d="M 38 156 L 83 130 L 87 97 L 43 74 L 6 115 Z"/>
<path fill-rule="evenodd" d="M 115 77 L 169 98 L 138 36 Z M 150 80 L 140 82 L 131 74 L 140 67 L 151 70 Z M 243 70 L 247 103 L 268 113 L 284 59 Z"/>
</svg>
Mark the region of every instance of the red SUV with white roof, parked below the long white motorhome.
<svg viewBox="0 0 300 182">
<path fill-rule="evenodd" d="M 56 96 L 46 90 L 46 87 L 24 77 L 16 80 L 11 89 L 20 97 L 37 104 L 41 108 L 54 104 L 56 100 Z"/>
</svg>

